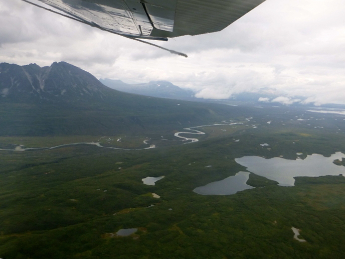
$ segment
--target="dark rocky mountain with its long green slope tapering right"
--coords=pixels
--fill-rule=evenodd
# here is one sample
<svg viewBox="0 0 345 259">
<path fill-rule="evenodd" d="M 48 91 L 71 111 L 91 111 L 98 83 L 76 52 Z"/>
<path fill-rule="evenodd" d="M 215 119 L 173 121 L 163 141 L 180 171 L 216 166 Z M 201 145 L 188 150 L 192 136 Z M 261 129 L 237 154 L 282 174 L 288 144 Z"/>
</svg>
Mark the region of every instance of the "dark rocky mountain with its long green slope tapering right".
<svg viewBox="0 0 345 259">
<path fill-rule="evenodd" d="M 244 111 L 120 92 L 66 62 L 0 64 L 0 136 L 162 133 Z"/>
</svg>

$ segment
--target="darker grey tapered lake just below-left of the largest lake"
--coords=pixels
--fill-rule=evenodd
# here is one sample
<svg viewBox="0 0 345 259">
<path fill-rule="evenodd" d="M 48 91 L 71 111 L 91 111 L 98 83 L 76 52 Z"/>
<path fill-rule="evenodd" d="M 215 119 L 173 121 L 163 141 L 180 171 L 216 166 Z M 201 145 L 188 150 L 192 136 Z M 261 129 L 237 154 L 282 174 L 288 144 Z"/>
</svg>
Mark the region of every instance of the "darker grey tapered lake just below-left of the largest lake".
<svg viewBox="0 0 345 259">
<path fill-rule="evenodd" d="M 249 174 L 249 172 L 238 172 L 234 176 L 197 187 L 193 191 L 202 195 L 230 195 L 246 189 L 253 189 L 255 187 L 246 184 Z"/>
</svg>

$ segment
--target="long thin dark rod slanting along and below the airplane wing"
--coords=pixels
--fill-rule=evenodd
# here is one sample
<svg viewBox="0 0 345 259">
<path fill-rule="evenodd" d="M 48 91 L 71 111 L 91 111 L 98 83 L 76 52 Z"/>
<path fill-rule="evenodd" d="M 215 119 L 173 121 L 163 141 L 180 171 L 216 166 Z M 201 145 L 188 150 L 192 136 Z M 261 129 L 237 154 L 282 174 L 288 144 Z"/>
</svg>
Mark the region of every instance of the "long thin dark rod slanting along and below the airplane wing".
<svg viewBox="0 0 345 259">
<path fill-rule="evenodd" d="M 59 12 L 56 12 L 56 11 L 52 10 L 52 9 L 49 9 L 49 8 L 46 8 L 46 7 L 37 5 L 37 4 L 35 4 L 35 3 L 32 3 L 32 2 L 30 2 L 30 1 L 28 1 L 28 0 L 22 0 L 22 1 L 25 2 L 25 3 L 28 3 L 28 4 L 30 4 L 30 5 L 33 5 L 33 6 L 35 6 L 35 7 L 39 7 L 39 8 L 42 8 L 42 9 L 44 9 L 44 10 L 47 10 L 47 11 L 49 11 L 49 12 L 52 12 L 52 13 L 54 13 L 54 14 L 61 15 L 61 16 L 63 16 L 63 17 L 67 17 L 67 18 L 69 18 L 69 19 L 72 19 L 72 20 L 74 20 L 74 21 L 77 21 L 77 22 L 80 22 L 80 23 L 89 25 L 89 26 L 91 26 L 91 27 L 95 27 L 95 28 L 100 29 L 100 30 L 102 30 L 102 31 L 110 32 L 110 33 L 113 33 L 113 34 L 116 34 L 116 35 L 120 35 L 120 36 L 122 36 L 122 37 L 131 39 L 131 40 L 134 40 L 134 41 L 138 41 L 138 42 L 141 42 L 141 43 L 145 43 L 145 44 L 148 44 L 148 45 L 157 47 L 157 48 L 159 48 L 159 49 L 166 50 L 166 51 L 170 52 L 171 54 L 180 55 L 180 56 L 183 56 L 183 57 L 186 57 L 186 58 L 188 57 L 185 53 L 178 52 L 178 51 L 175 51 L 175 50 L 170 50 L 170 49 L 161 47 L 161 46 L 159 46 L 159 45 L 156 45 L 156 44 L 153 44 L 153 43 L 150 43 L 150 42 L 147 42 L 147 41 L 139 40 L 139 39 L 135 38 L 134 36 L 125 35 L 125 34 L 121 34 L 121 33 L 117 33 L 117 32 L 114 32 L 114 31 L 105 29 L 105 28 L 103 28 L 103 27 L 101 27 L 101 26 L 99 26 L 99 25 L 97 25 L 97 24 L 95 24 L 95 23 L 90 23 L 90 22 L 88 22 L 88 21 L 86 21 L 86 20 L 83 20 L 83 19 L 80 19 L 80 18 L 78 19 L 78 18 L 75 18 L 75 17 L 72 17 L 72 16 L 68 16 L 68 15 L 61 14 L 61 13 L 59 13 Z"/>
</svg>

